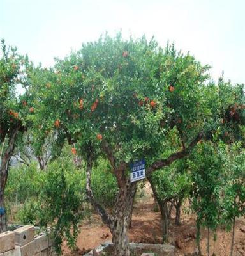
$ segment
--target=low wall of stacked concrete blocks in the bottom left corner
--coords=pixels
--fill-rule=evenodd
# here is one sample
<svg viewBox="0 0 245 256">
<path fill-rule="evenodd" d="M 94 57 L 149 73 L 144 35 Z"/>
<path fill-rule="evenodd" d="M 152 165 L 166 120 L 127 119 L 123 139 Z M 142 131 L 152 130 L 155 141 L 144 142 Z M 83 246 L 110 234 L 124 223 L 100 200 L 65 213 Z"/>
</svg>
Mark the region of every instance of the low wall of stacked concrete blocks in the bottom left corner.
<svg viewBox="0 0 245 256">
<path fill-rule="evenodd" d="M 54 256 L 48 234 L 34 234 L 34 226 L 26 225 L 0 234 L 0 256 Z"/>
</svg>

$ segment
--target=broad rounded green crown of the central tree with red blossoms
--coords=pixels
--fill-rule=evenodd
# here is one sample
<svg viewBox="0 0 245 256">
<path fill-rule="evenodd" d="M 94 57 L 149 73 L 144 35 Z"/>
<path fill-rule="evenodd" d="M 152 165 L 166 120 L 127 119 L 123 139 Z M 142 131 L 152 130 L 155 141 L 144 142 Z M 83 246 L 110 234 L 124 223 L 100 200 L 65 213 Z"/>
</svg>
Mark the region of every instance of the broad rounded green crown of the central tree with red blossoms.
<svg viewBox="0 0 245 256">
<path fill-rule="evenodd" d="M 170 147 L 175 127 L 173 150 L 204 128 L 211 115 L 204 90 L 208 70 L 174 45 L 163 49 L 144 36 L 105 35 L 57 59 L 50 70 L 29 70 L 38 99 L 31 120 L 40 134 L 56 131 L 61 146 L 64 136 L 75 141 L 80 154 L 87 154 L 88 145 L 101 154 L 101 134 L 116 161 L 145 157 L 150 164 Z"/>
</svg>

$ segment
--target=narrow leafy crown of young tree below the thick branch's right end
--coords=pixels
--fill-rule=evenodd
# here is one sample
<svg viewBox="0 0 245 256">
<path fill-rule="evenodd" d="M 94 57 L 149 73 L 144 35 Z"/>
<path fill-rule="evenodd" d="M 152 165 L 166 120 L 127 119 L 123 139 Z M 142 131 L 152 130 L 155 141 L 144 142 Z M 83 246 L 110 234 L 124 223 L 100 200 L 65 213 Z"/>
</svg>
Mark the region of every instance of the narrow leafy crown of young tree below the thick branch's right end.
<svg viewBox="0 0 245 256">
<path fill-rule="evenodd" d="M 191 207 L 197 214 L 197 223 L 216 230 L 223 209 L 222 194 L 226 182 L 225 155 L 222 145 L 211 141 L 200 143 L 189 159 L 191 180 Z"/>
</svg>

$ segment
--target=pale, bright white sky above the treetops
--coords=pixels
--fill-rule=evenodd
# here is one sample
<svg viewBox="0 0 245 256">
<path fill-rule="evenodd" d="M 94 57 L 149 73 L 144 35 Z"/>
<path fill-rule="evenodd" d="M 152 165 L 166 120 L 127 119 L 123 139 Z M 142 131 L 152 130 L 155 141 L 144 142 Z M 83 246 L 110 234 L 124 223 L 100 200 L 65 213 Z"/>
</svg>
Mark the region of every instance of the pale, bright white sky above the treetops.
<svg viewBox="0 0 245 256">
<path fill-rule="evenodd" d="M 108 31 L 175 42 L 215 81 L 245 83 L 244 0 L 0 0 L 0 38 L 43 66 Z"/>
</svg>

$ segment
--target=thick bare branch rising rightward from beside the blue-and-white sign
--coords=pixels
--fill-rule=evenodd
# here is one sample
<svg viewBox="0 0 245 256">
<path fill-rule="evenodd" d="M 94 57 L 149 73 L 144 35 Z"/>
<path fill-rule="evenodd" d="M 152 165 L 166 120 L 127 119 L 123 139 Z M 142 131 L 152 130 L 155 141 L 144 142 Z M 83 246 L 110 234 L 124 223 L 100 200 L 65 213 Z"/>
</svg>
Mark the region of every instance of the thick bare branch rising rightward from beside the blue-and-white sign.
<svg viewBox="0 0 245 256">
<path fill-rule="evenodd" d="M 185 156 L 188 156 L 191 150 L 197 145 L 198 141 L 202 140 L 204 134 L 200 132 L 197 137 L 191 141 L 187 148 L 182 148 L 182 150 L 171 154 L 167 159 L 157 160 L 155 161 L 149 168 L 146 170 L 146 175 L 150 175 L 155 170 L 161 169 L 169 164 L 173 163 L 177 159 L 181 159 Z"/>
</svg>

